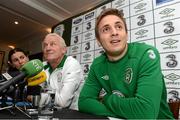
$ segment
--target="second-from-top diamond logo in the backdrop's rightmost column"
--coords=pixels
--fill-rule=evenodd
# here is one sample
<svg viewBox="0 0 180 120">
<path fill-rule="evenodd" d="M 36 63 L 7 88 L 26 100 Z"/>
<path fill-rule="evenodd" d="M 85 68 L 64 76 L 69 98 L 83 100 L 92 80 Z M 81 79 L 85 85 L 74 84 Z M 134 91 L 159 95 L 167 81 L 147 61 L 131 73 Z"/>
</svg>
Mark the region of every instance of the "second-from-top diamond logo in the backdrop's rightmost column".
<svg viewBox="0 0 180 120">
<path fill-rule="evenodd" d="M 166 49 L 176 49 L 177 45 L 175 45 L 178 42 L 178 40 L 174 40 L 172 38 L 169 38 L 165 41 L 163 41 L 161 44 L 166 45 L 165 47 L 163 47 L 164 50 Z"/>
</svg>

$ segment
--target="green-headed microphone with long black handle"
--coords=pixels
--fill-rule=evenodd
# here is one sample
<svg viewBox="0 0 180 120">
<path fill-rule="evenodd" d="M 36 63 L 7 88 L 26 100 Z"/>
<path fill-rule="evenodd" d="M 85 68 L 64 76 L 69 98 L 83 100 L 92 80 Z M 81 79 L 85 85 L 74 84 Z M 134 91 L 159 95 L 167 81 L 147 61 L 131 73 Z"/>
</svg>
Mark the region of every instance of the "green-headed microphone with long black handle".
<svg viewBox="0 0 180 120">
<path fill-rule="evenodd" d="M 43 70 L 43 64 L 39 59 L 34 59 L 26 64 L 24 64 L 21 69 L 20 73 L 8 80 L 4 85 L 0 86 L 0 93 L 6 90 L 6 88 L 10 87 L 12 84 L 17 84 L 25 77 L 32 77 L 36 74 L 40 73 Z"/>
</svg>

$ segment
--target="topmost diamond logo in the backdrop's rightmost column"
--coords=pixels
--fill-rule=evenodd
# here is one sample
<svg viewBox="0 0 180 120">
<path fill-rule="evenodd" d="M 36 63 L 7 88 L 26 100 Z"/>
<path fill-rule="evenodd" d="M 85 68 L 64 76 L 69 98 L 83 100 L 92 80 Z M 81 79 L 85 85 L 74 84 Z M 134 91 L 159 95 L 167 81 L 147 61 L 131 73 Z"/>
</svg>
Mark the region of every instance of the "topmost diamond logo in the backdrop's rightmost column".
<svg viewBox="0 0 180 120">
<path fill-rule="evenodd" d="M 165 8 L 163 11 L 161 11 L 159 14 L 162 15 L 161 18 L 167 18 L 167 17 L 172 17 L 174 14 L 172 13 L 175 9 L 171 8 Z"/>
</svg>

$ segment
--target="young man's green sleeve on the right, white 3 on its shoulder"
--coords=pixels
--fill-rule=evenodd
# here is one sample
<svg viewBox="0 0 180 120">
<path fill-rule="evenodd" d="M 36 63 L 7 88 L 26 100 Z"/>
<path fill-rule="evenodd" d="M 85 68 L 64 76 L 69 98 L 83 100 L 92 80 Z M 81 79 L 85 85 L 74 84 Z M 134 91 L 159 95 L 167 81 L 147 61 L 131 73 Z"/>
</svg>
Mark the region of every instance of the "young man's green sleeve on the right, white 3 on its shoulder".
<svg viewBox="0 0 180 120">
<path fill-rule="evenodd" d="M 156 119 L 163 90 L 160 56 L 156 49 L 149 49 L 139 60 L 134 97 L 126 98 L 111 94 L 104 97 L 103 103 L 120 117 Z"/>
</svg>

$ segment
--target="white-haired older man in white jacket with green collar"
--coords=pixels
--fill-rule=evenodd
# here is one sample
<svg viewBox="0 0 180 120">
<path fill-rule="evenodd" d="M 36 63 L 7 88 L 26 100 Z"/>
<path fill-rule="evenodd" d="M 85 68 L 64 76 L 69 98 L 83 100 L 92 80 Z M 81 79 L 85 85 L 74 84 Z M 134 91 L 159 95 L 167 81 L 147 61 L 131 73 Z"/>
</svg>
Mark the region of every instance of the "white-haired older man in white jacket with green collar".
<svg viewBox="0 0 180 120">
<path fill-rule="evenodd" d="M 47 80 L 43 84 L 44 92 L 41 94 L 40 107 L 54 102 L 55 106 L 78 110 L 78 97 L 83 85 L 83 72 L 79 62 L 71 56 L 66 56 L 66 44 L 62 37 L 56 33 L 46 35 L 42 42 L 44 69 Z M 47 88 L 47 89 L 46 89 Z"/>
</svg>

